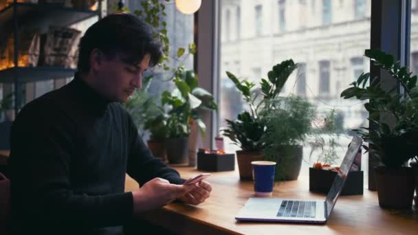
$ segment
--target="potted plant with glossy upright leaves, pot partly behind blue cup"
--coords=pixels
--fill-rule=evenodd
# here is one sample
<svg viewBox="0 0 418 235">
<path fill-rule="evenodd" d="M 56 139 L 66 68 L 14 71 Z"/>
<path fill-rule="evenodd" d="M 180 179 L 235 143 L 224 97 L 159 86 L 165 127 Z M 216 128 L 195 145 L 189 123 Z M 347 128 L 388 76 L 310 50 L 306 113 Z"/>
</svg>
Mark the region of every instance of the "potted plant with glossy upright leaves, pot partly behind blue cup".
<svg viewBox="0 0 418 235">
<path fill-rule="evenodd" d="M 229 137 L 233 144 L 241 150 L 236 151 L 240 179 L 252 179 L 251 161 L 264 159 L 262 150 L 266 146 L 264 135 L 269 133 L 269 121 L 277 108 L 277 100 L 281 89 L 296 69 L 293 60 L 285 60 L 274 65 L 267 74 L 267 80 L 260 82 L 261 92 L 255 89 L 255 83 L 248 80 L 238 80 L 234 74 L 226 72 L 228 78 L 234 82 L 236 88 L 242 93 L 243 100 L 248 104 L 249 111 L 240 113 L 236 120 L 226 120 L 227 127 L 222 130 L 225 137 Z M 270 144 L 270 143 L 267 143 Z"/>
</svg>

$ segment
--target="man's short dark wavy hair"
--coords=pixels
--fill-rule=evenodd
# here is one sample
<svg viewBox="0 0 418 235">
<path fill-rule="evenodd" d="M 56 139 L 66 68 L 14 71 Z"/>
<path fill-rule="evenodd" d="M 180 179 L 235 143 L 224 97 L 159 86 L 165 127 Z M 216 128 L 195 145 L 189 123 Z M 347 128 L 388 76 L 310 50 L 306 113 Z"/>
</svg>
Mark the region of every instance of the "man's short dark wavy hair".
<svg viewBox="0 0 418 235">
<path fill-rule="evenodd" d="M 91 25 L 78 45 L 78 71 L 90 70 L 90 54 L 100 49 L 107 58 L 117 52 L 128 56 L 127 63 L 137 65 L 150 54 L 149 66 L 157 65 L 162 57 L 161 43 L 152 36 L 151 27 L 133 14 L 111 14 Z"/>
</svg>

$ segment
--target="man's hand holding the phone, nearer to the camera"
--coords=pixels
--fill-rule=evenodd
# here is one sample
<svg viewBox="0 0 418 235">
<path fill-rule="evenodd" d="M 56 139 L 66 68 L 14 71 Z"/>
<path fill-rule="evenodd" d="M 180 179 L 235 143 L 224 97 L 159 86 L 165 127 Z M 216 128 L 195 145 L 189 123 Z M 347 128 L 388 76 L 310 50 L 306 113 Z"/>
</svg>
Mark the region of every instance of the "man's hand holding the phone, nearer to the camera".
<svg viewBox="0 0 418 235">
<path fill-rule="evenodd" d="M 151 179 L 140 190 L 132 192 L 133 214 L 161 208 L 177 198 L 184 197 L 194 188 L 197 186 L 176 185 L 161 178 Z"/>
</svg>

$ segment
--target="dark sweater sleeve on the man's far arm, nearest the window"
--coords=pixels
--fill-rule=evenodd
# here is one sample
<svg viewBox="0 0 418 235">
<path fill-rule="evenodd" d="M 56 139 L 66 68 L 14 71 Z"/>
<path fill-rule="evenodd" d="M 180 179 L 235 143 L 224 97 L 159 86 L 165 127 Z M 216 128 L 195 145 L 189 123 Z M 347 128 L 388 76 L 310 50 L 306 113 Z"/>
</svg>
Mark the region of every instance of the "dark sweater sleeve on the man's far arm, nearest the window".
<svg viewBox="0 0 418 235">
<path fill-rule="evenodd" d="M 160 159 L 153 157 L 151 150 L 144 144 L 142 137 L 138 134 L 137 128 L 129 116 L 129 155 L 127 173 L 130 177 L 135 179 L 140 185 L 155 177 L 167 179 L 170 183 L 180 184 L 184 179 L 181 179 L 179 172 L 169 168 Z"/>
</svg>

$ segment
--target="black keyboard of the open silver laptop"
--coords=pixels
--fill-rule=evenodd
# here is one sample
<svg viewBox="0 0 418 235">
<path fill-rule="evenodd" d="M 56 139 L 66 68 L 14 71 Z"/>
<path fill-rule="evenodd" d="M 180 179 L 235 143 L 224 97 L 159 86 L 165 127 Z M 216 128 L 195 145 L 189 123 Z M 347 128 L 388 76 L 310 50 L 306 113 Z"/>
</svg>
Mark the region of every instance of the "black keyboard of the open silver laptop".
<svg viewBox="0 0 418 235">
<path fill-rule="evenodd" d="M 278 217 L 314 218 L 316 201 L 282 201 Z"/>
</svg>

